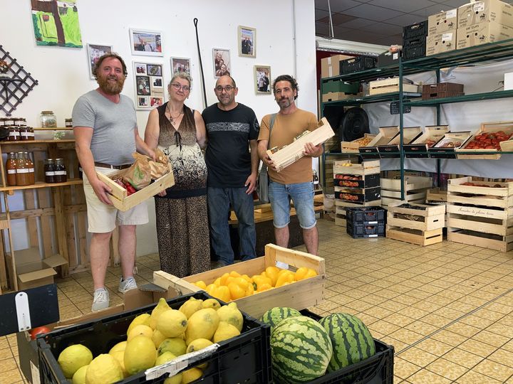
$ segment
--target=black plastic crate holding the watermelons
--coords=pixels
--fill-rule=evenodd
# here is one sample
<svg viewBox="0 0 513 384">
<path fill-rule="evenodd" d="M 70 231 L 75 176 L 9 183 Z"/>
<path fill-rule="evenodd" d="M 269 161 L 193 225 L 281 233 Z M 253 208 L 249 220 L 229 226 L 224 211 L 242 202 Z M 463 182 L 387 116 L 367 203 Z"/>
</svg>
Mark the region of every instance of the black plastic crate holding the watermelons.
<svg viewBox="0 0 513 384">
<path fill-rule="evenodd" d="M 319 320 L 321 316 L 308 309 L 301 311 L 304 316 Z M 393 384 L 393 356 L 394 347 L 374 339 L 375 354 L 356 364 L 326 373 L 326 375 L 312 380 L 309 384 Z"/>
</svg>

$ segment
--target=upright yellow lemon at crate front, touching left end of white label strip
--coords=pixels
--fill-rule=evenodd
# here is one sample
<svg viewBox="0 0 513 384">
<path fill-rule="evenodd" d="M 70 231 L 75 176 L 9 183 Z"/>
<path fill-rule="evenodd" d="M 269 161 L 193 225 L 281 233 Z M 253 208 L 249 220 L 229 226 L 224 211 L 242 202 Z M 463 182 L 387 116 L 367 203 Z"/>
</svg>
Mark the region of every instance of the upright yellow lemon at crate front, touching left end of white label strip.
<svg viewBox="0 0 513 384">
<path fill-rule="evenodd" d="M 151 338 L 135 336 L 128 341 L 123 361 L 129 375 L 135 375 L 141 370 L 152 368 L 156 359 L 157 350 Z"/>
</svg>

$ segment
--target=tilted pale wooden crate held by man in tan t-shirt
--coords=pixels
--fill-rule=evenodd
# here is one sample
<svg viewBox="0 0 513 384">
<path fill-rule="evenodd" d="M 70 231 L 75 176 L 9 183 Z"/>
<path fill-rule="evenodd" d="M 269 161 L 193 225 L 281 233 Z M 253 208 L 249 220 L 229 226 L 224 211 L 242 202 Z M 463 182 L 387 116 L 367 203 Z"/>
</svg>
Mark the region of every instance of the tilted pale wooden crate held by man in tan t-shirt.
<svg viewBox="0 0 513 384">
<path fill-rule="evenodd" d="M 314 131 L 304 134 L 303 136 L 296 139 L 291 144 L 279 149 L 276 152 L 272 152 L 271 149 L 267 150 L 267 156 L 274 161 L 277 171 L 281 171 L 287 166 L 294 164 L 296 161 L 304 156 L 304 145 L 306 143 L 312 143 L 314 145 L 322 144 L 326 142 L 330 137 L 335 136 L 335 132 L 331 129 L 330 124 L 326 117 L 323 117 L 318 123 L 318 128 Z"/>
</svg>

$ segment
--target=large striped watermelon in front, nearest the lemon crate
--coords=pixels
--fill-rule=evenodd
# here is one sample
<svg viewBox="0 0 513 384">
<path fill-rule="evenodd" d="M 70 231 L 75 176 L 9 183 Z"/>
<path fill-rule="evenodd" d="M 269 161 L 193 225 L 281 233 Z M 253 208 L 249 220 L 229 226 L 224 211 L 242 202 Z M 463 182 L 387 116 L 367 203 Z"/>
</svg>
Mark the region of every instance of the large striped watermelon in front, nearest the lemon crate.
<svg viewBox="0 0 513 384">
<path fill-rule="evenodd" d="M 271 332 L 273 377 L 278 383 L 305 383 L 321 377 L 332 352 L 326 329 L 306 316 L 288 317 Z"/>
</svg>

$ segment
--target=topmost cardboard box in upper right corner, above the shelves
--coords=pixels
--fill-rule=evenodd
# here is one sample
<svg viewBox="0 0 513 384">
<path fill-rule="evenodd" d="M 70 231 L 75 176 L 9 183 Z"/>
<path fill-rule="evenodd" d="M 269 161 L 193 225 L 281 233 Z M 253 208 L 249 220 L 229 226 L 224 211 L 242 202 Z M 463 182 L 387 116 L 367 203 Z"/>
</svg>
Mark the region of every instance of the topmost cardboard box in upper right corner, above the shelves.
<svg viewBox="0 0 513 384">
<path fill-rule="evenodd" d="M 513 26 L 513 6 L 499 0 L 480 0 L 458 8 L 457 28 L 465 28 L 484 21 Z"/>
</svg>

